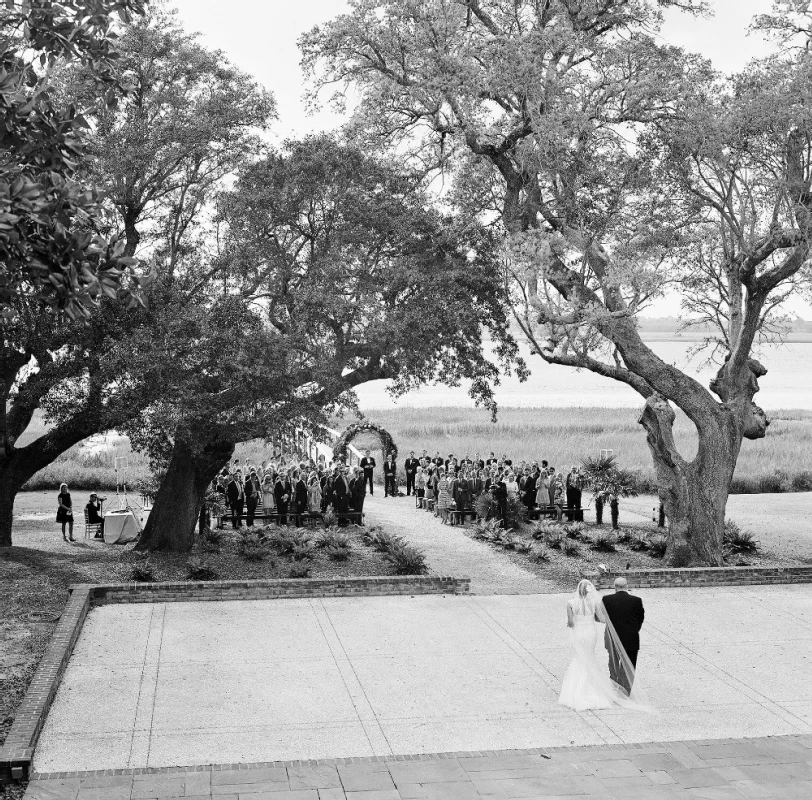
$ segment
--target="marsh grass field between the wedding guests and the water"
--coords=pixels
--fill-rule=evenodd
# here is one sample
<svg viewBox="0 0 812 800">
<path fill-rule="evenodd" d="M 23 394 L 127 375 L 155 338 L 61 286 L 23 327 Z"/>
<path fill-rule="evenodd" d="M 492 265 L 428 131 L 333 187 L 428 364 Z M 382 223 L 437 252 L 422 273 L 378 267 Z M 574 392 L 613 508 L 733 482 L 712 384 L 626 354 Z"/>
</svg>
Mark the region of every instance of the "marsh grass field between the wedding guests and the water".
<svg viewBox="0 0 812 800">
<path fill-rule="evenodd" d="M 643 429 L 637 423 L 638 411 L 631 408 L 500 408 L 496 423 L 483 409 L 461 407 L 370 409 L 367 419 L 383 425 L 399 449 L 399 464 L 410 450 L 430 455 L 439 450 L 445 457 L 493 451 L 514 460 L 546 459 L 551 465 L 568 468 L 603 449 L 614 451 L 618 463 L 638 474 L 638 488 L 653 492 L 654 470 Z M 745 441 L 732 490 L 734 493 L 791 492 L 812 490 L 812 411 L 769 412 L 767 436 Z M 335 419 L 333 427 L 342 430 L 352 419 Z M 30 441 L 46 430 L 35 419 L 25 438 Z M 680 452 L 691 458 L 696 452 L 696 432 L 684 415 L 678 415 L 675 436 Z M 380 449 L 377 438 L 358 437 L 354 444 L 363 449 Z M 260 462 L 270 448 L 262 441 L 240 444 L 236 455 Z M 72 489 L 114 489 L 114 458 L 128 460 L 130 486 L 149 475 L 146 456 L 135 453 L 126 437 L 115 433 L 94 437 L 76 445 L 53 464 L 39 472 L 26 486 L 28 490 L 58 488 L 61 482 Z"/>
</svg>

